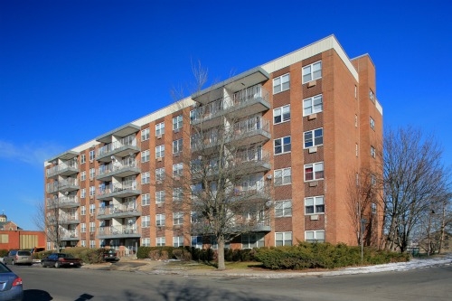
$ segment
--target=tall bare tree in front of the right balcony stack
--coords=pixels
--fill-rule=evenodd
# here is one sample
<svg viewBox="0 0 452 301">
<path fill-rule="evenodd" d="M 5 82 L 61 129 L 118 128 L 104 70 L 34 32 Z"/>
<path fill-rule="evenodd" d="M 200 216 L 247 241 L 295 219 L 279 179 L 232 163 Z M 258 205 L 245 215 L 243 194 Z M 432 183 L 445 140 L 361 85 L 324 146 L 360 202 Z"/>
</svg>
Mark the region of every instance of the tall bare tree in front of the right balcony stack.
<svg viewBox="0 0 452 301">
<path fill-rule="evenodd" d="M 201 89 L 207 71 L 193 70 Z M 191 235 L 218 244 L 218 268 L 224 269 L 227 242 L 269 227 L 269 155 L 263 149 L 269 123 L 259 110 L 250 111 L 252 104 L 268 102 L 268 92 L 259 84 L 228 96 L 217 92 L 198 90 L 190 110 L 182 109 L 185 136 L 190 136 L 177 159 L 184 170 L 165 183 L 173 200 L 183 200 L 173 202 L 173 212 L 191 217 Z"/>
</svg>

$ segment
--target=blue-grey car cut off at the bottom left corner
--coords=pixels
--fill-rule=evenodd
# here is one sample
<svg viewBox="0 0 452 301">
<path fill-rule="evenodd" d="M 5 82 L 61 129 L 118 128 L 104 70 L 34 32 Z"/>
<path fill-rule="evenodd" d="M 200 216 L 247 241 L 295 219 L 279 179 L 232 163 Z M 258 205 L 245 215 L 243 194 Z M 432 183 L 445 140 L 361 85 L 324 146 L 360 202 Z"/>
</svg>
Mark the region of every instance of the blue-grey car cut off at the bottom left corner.
<svg viewBox="0 0 452 301">
<path fill-rule="evenodd" d="M 22 301 L 23 299 L 22 278 L 0 263 L 0 300 Z"/>
</svg>

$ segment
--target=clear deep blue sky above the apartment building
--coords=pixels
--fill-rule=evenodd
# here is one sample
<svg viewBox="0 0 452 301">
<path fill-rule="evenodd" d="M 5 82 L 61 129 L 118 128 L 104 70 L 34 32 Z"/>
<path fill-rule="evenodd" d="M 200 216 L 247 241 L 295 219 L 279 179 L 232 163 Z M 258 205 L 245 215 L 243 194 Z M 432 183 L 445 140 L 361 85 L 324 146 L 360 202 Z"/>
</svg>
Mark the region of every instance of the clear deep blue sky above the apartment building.
<svg viewBox="0 0 452 301">
<path fill-rule="evenodd" d="M 0 1 L 0 212 L 34 230 L 43 162 L 174 101 L 192 62 L 226 80 L 334 34 L 369 53 L 384 127 L 452 162 L 452 2 Z"/>
</svg>

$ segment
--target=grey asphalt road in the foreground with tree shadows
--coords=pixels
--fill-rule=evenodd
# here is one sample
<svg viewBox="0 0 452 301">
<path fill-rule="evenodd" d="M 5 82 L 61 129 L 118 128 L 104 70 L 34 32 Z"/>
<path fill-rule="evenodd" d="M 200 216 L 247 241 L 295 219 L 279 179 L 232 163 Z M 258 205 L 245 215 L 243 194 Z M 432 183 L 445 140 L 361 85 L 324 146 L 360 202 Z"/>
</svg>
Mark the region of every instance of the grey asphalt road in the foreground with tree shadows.
<svg viewBox="0 0 452 301">
<path fill-rule="evenodd" d="M 184 277 L 37 265 L 11 268 L 24 280 L 24 301 L 452 300 L 452 266 L 286 279 Z"/>
</svg>

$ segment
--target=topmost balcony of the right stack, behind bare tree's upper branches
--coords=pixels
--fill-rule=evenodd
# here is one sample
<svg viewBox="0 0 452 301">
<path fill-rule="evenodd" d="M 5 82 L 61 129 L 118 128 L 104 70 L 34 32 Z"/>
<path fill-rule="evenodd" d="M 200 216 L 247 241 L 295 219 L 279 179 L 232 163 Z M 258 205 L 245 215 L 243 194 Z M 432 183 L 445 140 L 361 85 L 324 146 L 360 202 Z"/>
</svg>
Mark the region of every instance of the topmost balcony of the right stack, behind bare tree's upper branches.
<svg viewBox="0 0 452 301">
<path fill-rule="evenodd" d="M 192 125 L 202 125 L 202 128 L 218 127 L 222 124 L 223 117 L 240 119 L 266 111 L 270 108 L 268 95 L 266 89 L 256 85 L 240 90 L 232 97 L 214 100 L 193 110 Z"/>
</svg>

